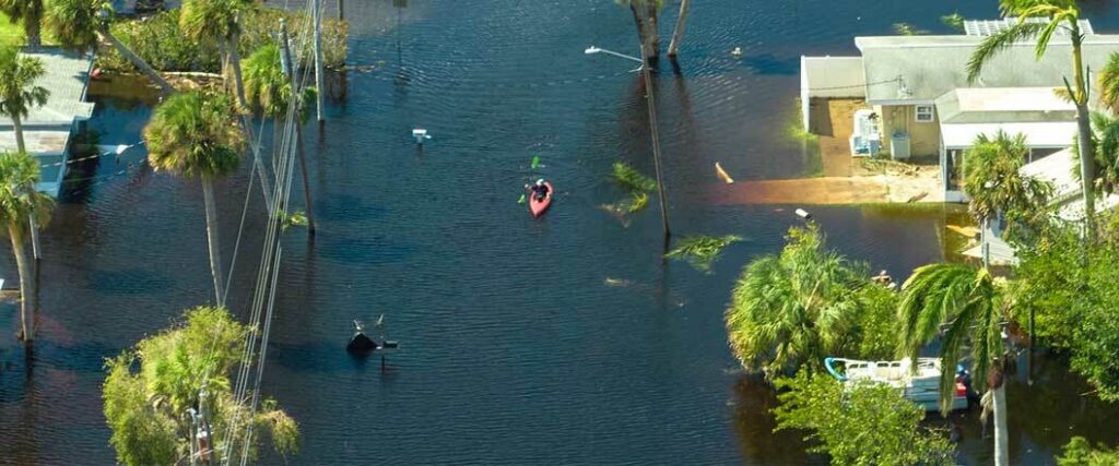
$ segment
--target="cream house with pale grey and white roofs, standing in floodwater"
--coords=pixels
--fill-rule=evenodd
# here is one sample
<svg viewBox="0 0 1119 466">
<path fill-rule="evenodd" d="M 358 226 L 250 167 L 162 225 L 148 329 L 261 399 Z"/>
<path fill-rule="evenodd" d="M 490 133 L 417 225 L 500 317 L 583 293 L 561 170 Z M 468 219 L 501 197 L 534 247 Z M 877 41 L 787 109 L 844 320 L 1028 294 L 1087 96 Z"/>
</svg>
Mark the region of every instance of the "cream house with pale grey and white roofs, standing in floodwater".
<svg viewBox="0 0 1119 466">
<path fill-rule="evenodd" d="M 805 126 L 814 130 L 810 108 L 826 99 L 864 99 L 880 118 L 884 154 L 939 158 L 949 201 L 963 198 L 963 150 L 979 134 L 1025 134 L 1029 161 L 1070 146 L 1075 107 L 1055 95 L 1073 70 L 1071 41 L 1062 30 L 1041 59 L 1034 41 L 1023 41 L 996 55 L 975 83 L 967 79 L 976 47 L 1013 21 L 967 21 L 967 32 L 955 36 L 856 37 L 858 57 L 801 57 Z M 1119 35 L 1094 34 L 1087 20 L 1081 28 L 1084 64 L 1100 69 L 1119 51 Z"/>
</svg>

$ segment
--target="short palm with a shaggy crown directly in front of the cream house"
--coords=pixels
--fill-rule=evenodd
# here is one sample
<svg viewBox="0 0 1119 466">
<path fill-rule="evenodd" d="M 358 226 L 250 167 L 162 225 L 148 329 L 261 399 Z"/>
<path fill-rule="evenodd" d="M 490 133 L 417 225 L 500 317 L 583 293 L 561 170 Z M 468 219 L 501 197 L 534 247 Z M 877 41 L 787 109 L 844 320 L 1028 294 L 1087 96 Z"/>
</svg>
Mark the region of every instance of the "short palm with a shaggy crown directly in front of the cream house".
<svg viewBox="0 0 1119 466">
<path fill-rule="evenodd" d="M 971 216 L 982 225 L 984 266 L 990 266 L 990 220 L 1000 212 L 1034 217 L 1052 196 L 1052 184 L 1019 173 L 1028 155 L 1024 134 L 1010 136 L 1002 130 L 995 137 L 980 134 L 965 152 L 963 190 L 971 198 Z"/>
</svg>

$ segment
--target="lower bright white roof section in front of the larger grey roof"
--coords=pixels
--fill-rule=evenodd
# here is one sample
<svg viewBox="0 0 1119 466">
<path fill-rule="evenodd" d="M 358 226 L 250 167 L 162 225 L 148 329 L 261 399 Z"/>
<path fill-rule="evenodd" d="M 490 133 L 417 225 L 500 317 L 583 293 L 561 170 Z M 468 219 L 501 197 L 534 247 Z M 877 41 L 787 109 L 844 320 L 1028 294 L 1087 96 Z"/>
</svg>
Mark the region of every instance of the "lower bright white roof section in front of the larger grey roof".
<svg viewBox="0 0 1119 466">
<path fill-rule="evenodd" d="M 937 98 L 941 123 L 1071 122 L 1076 106 L 1053 87 L 959 88 Z"/>
</svg>

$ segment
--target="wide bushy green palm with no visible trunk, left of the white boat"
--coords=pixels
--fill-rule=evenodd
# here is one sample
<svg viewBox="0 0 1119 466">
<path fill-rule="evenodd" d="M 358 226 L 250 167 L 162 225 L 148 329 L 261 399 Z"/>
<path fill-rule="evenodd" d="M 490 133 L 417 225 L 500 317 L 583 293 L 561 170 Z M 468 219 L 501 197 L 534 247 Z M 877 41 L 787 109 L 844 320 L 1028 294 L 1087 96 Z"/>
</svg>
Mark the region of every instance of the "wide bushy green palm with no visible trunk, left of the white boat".
<svg viewBox="0 0 1119 466">
<path fill-rule="evenodd" d="M 857 291 L 869 284 L 858 267 L 825 249 L 815 225 L 792 228 L 786 239 L 780 256 L 746 266 L 724 315 L 735 356 L 769 377 L 805 363 L 818 368 L 825 356 L 852 349 Z"/>
</svg>

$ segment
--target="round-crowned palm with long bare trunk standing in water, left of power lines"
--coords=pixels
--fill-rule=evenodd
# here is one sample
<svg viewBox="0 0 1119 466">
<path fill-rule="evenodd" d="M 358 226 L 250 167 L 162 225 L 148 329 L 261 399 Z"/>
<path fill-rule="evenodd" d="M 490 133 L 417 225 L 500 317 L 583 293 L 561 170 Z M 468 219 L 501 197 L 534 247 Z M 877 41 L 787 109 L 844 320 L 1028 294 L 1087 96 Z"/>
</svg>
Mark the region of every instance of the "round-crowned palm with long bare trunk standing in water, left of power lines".
<svg viewBox="0 0 1119 466">
<path fill-rule="evenodd" d="M 188 92 L 172 95 L 156 107 L 143 130 L 149 160 L 156 170 L 198 179 L 206 202 L 206 237 L 210 272 L 219 306 L 225 303 L 218 248 L 214 181 L 237 171 L 245 134 L 236 122 L 233 102 L 224 94 Z"/>
</svg>

